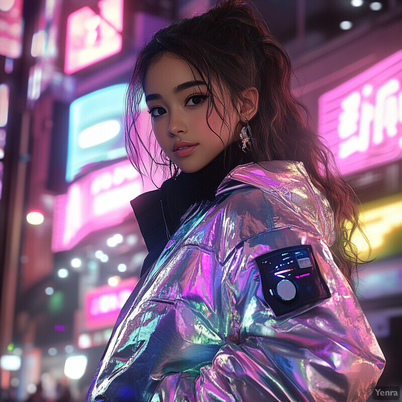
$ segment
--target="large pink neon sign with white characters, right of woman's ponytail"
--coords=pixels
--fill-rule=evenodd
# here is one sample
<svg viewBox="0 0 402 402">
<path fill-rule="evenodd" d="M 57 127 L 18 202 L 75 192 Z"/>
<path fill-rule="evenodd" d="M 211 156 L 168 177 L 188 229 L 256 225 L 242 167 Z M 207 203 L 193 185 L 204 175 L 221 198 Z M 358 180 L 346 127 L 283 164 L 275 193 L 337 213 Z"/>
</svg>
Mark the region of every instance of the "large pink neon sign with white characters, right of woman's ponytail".
<svg viewBox="0 0 402 402">
<path fill-rule="evenodd" d="M 342 174 L 402 158 L 402 51 L 322 95 L 319 132 Z"/>
</svg>

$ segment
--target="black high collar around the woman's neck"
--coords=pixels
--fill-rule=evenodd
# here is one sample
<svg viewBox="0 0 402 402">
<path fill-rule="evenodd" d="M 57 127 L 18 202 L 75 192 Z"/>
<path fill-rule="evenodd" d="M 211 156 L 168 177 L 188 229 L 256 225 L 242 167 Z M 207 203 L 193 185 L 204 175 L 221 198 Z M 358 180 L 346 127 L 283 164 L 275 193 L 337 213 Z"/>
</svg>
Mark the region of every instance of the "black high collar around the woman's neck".
<svg viewBox="0 0 402 402">
<path fill-rule="evenodd" d="M 201 170 L 181 172 L 176 178 L 164 181 L 159 189 L 141 194 L 131 201 L 149 251 L 141 275 L 159 257 L 187 210 L 205 200 L 213 201 L 225 176 L 236 166 L 249 162 L 252 162 L 250 154 L 243 152 L 237 141 Z"/>
</svg>

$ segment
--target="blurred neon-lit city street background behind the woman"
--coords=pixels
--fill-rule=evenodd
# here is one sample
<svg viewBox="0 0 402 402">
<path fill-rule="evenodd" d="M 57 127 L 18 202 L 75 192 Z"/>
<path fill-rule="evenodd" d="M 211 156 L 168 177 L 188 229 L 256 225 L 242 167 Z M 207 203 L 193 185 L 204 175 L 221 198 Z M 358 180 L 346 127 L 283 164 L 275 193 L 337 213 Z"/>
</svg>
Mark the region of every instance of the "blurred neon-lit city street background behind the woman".
<svg viewBox="0 0 402 402">
<path fill-rule="evenodd" d="M 82 400 L 147 250 L 124 150 L 141 45 L 214 0 L 0 0 L 0 400 Z M 362 203 L 357 294 L 402 385 L 402 1 L 255 0 Z M 148 114 L 144 114 L 147 124 Z M 356 238 L 362 256 L 367 248 Z"/>
</svg>

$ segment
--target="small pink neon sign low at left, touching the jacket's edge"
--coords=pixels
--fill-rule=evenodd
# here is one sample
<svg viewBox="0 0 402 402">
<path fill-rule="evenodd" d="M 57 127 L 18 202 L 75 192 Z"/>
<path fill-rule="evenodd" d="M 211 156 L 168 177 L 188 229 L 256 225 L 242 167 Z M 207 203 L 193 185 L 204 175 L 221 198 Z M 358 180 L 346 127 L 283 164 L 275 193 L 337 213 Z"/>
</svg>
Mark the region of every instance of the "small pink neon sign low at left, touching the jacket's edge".
<svg viewBox="0 0 402 402">
<path fill-rule="evenodd" d="M 88 330 L 113 326 L 137 278 L 122 280 L 117 286 L 100 286 L 85 294 L 85 327 Z"/>
</svg>

